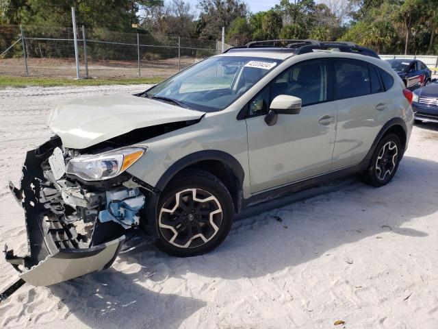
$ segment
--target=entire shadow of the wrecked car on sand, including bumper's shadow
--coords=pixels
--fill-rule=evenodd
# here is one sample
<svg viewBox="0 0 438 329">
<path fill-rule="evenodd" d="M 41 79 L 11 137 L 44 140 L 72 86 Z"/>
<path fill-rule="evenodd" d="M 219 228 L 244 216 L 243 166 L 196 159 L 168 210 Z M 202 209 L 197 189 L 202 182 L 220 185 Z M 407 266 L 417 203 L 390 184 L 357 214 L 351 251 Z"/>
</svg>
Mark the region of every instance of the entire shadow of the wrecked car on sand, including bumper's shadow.
<svg viewBox="0 0 438 329">
<path fill-rule="evenodd" d="M 266 276 L 389 231 L 422 239 L 428 232 L 409 226 L 438 210 L 438 186 L 430 180 L 437 169 L 437 162 L 404 157 L 394 180 L 381 188 L 350 177 L 248 208 L 209 254 L 175 258 L 145 243 L 119 256 L 114 266 L 120 272 L 92 273 L 50 289 L 92 328 L 178 328 L 206 302 L 142 286 L 185 282 L 187 273 L 228 280 Z"/>
</svg>

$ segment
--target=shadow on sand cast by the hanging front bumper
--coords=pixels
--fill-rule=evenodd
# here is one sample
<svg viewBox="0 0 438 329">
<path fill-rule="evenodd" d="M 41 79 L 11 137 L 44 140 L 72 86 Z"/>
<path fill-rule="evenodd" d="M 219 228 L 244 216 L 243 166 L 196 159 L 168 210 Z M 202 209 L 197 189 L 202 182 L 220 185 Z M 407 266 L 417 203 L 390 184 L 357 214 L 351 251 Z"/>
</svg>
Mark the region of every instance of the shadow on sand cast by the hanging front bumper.
<svg viewBox="0 0 438 329">
<path fill-rule="evenodd" d="M 147 272 L 146 272 L 147 273 Z M 154 292 L 142 287 L 144 271 L 130 275 L 116 269 L 55 284 L 49 289 L 89 328 L 176 329 L 207 303 L 194 297 Z"/>
</svg>

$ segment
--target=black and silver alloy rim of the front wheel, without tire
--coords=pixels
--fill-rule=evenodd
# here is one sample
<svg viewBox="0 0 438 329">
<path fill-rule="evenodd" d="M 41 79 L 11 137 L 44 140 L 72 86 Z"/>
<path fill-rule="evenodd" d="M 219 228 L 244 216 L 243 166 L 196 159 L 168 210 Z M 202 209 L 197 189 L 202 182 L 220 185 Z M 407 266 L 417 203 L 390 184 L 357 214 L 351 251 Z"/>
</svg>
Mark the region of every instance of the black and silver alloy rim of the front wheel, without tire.
<svg viewBox="0 0 438 329">
<path fill-rule="evenodd" d="M 164 202 L 158 219 L 159 230 L 169 243 L 192 248 L 207 243 L 222 223 L 218 199 L 201 188 L 188 188 Z"/>
</svg>

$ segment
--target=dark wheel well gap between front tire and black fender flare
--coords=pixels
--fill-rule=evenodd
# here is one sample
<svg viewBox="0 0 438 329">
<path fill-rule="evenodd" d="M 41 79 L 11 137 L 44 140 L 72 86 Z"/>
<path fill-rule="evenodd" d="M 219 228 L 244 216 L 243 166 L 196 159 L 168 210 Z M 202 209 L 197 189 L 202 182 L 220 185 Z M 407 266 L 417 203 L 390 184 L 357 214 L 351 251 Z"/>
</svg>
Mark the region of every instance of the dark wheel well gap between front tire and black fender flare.
<svg viewBox="0 0 438 329">
<path fill-rule="evenodd" d="M 224 183 L 225 187 L 227 187 L 231 194 L 234 211 L 239 212 L 242 199 L 240 197 L 242 186 L 237 175 L 235 175 L 234 171 L 227 166 L 227 164 L 224 164 L 220 160 L 201 160 L 181 169 L 179 173 L 188 169 L 201 169 L 211 173 L 211 175 L 215 175 L 222 183 Z"/>
</svg>

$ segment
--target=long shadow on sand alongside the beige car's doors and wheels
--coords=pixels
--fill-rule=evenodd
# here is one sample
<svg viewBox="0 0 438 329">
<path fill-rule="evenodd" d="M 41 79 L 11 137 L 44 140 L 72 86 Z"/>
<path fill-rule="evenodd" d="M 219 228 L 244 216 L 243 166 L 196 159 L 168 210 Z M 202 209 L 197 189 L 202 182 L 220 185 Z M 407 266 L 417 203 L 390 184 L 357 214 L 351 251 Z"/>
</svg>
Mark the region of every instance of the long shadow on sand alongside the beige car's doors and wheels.
<svg viewBox="0 0 438 329">
<path fill-rule="evenodd" d="M 438 210 L 438 186 L 429 179 L 437 169 L 437 162 L 404 157 L 394 180 L 381 188 L 350 177 L 255 206 L 237 218 L 220 247 L 203 256 L 173 258 L 145 247 L 121 257 L 152 267 L 166 264 L 152 280 L 188 272 L 233 280 L 281 271 L 388 231 L 421 238 L 428 233 L 409 226 Z"/>
</svg>

